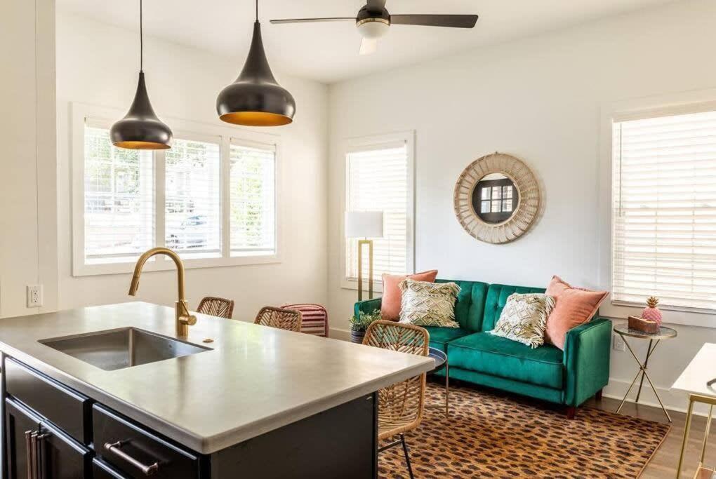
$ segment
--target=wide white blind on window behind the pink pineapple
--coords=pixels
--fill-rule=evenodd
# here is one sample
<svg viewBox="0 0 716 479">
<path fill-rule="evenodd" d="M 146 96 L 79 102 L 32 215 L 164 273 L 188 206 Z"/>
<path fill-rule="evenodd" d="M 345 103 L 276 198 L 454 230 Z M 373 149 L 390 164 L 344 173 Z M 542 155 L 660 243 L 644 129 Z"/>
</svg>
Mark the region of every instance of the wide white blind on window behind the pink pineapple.
<svg viewBox="0 0 716 479">
<path fill-rule="evenodd" d="M 614 302 L 716 310 L 716 112 L 614 123 Z"/>
</svg>

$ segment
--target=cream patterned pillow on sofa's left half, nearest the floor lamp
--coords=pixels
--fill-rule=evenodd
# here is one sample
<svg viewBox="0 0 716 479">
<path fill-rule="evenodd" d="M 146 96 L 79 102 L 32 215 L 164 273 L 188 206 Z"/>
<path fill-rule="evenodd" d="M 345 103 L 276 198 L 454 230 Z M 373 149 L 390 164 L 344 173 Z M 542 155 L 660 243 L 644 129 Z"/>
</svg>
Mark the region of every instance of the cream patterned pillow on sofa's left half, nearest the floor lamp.
<svg viewBox="0 0 716 479">
<path fill-rule="evenodd" d="M 416 326 L 460 327 L 455 321 L 455 300 L 460 287 L 454 282 L 434 283 L 406 278 L 400 282 L 400 322 Z"/>
</svg>

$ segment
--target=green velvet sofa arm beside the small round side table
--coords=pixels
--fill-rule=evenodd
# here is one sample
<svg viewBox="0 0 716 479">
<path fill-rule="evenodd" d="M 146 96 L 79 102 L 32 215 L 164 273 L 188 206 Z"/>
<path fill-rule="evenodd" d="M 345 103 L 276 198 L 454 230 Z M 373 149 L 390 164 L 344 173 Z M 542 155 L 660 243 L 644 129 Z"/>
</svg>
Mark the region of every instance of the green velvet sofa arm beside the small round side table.
<svg viewBox="0 0 716 479">
<path fill-rule="evenodd" d="M 577 407 L 609 382 L 611 321 L 595 317 L 567 332 L 564 403 Z"/>
</svg>

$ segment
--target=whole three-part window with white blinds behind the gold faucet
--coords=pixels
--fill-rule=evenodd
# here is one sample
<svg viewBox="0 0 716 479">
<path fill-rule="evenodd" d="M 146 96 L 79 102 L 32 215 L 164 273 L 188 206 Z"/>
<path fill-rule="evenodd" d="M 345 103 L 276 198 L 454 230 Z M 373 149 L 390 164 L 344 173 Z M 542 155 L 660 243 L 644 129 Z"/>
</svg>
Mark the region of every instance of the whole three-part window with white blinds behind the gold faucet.
<svg viewBox="0 0 716 479">
<path fill-rule="evenodd" d="M 75 276 L 130 272 L 155 246 L 186 267 L 280 260 L 274 135 L 173 120 L 171 149 L 120 149 L 106 118 L 121 114 L 73 105 Z M 173 267 L 165 257 L 147 264 Z"/>
</svg>

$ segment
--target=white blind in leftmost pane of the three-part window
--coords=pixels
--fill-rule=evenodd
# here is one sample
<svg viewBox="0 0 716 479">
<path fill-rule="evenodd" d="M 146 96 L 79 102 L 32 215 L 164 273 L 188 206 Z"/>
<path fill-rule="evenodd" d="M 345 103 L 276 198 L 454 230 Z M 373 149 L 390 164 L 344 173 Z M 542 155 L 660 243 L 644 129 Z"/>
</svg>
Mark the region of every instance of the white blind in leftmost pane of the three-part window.
<svg viewBox="0 0 716 479">
<path fill-rule="evenodd" d="M 130 260 L 155 238 L 153 153 L 112 146 L 109 130 L 84 125 L 84 261 Z"/>
</svg>

